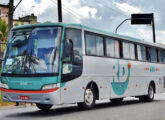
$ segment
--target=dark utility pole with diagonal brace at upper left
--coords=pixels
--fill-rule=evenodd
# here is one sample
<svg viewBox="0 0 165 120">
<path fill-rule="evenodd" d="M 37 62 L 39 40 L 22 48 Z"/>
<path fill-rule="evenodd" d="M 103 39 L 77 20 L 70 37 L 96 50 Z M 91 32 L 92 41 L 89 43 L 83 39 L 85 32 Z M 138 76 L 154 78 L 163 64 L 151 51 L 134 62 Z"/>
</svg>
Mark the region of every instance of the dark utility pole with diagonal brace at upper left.
<svg viewBox="0 0 165 120">
<path fill-rule="evenodd" d="M 14 0 L 9 0 L 8 30 L 10 30 L 13 27 L 13 14 L 15 9 L 19 6 L 21 2 L 22 0 L 20 0 L 18 4 L 14 7 Z"/>
</svg>

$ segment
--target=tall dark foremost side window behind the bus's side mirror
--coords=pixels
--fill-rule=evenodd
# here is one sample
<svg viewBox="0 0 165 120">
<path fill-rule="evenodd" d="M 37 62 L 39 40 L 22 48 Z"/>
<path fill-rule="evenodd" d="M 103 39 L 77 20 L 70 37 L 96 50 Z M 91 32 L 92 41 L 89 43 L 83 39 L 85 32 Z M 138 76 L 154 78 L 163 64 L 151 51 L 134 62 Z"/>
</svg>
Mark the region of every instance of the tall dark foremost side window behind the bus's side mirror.
<svg viewBox="0 0 165 120">
<path fill-rule="evenodd" d="M 74 80 L 75 78 L 81 76 L 82 74 L 82 34 L 79 29 L 67 28 L 65 32 L 64 43 L 69 40 L 72 43 L 72 54 L 71 54 L 71 63 L 63 62 L 62 70 L 62 82 Z M 70 48 L 68 48 L 70 49 Z M 64 48 L 63 60 L 65 60 L 65 54 L 67 49 Z M 68 57 L 68 56 L 66 56 Z"/>
</svg>

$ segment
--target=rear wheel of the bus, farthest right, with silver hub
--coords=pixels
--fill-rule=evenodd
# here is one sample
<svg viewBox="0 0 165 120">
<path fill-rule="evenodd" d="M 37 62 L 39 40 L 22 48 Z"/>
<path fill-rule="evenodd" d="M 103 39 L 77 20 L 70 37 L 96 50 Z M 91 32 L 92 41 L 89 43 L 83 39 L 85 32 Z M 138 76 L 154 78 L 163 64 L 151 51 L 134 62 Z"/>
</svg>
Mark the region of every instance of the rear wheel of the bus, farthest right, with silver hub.
<svg viewBox="0 0 165 120">
<path fill-rule="evenodd" d="M 140 96 L 139 100 L 142 102 L 151 102 L 154 100 L 154 85 L 153 83 L 150 83 L 148 87 L 148 94 L 145 96 Z"/>
</svg>

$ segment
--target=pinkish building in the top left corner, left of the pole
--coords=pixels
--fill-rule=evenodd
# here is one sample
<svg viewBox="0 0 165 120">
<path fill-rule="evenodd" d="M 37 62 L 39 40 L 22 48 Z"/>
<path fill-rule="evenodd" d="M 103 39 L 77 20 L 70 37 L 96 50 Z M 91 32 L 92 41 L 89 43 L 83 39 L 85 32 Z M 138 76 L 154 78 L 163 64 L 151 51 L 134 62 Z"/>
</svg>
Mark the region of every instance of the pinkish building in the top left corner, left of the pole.
<svg viewBox="0 0 165 120">
<path fill-rule="evenodd" d="M 8 24 L 8 13 L 9 13 L 9 6 L 0 4 L 0 17 L 6 21 Z"/>
</svg>

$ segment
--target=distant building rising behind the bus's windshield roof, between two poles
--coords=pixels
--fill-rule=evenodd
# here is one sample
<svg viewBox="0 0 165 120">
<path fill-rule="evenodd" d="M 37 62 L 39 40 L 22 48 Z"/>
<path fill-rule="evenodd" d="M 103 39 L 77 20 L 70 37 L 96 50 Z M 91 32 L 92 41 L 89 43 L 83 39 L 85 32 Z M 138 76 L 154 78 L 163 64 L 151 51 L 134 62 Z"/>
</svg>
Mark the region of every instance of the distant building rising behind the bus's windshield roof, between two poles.
<svg viewBox="0 0 165 120">
<path fill-rule="evenodd" d="M 35 23 L 37 23 L 37 16 L 35 16 L 34 14 L 19 17 L 18 19 L 13 20 L 13 26 L 28 25 Z"/>
</svg>

